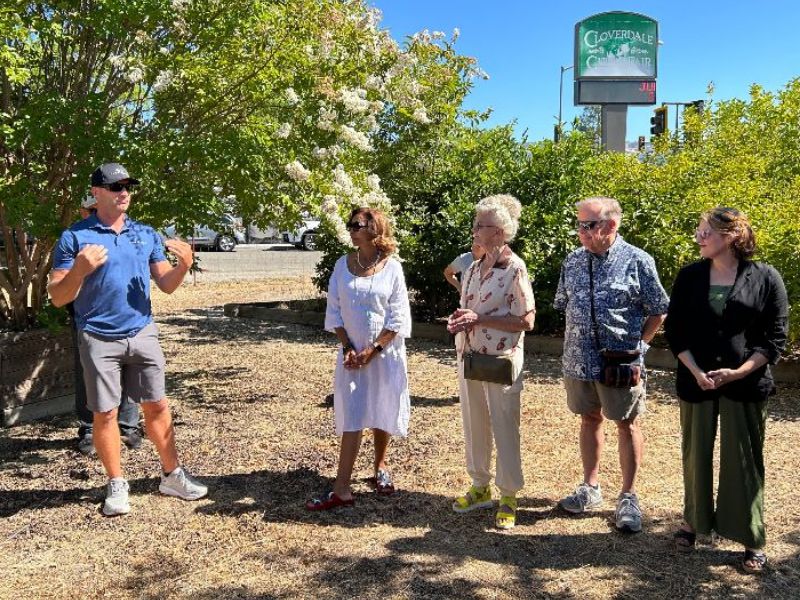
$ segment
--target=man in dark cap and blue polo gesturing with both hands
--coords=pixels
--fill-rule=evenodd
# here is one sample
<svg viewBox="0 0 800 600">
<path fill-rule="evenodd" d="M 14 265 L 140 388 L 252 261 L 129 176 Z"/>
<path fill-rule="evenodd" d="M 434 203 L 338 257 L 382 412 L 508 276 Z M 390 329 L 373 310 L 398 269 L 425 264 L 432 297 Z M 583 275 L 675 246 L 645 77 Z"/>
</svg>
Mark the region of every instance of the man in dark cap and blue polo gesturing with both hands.
<svg viewBox="0 0 800 600">
<path fill-rule="evenodd" d="M 92 173 L 96 213 L 65 231 L 55 249 L 48 291 L 56 306 L 73 302 L 94 445 L 108 476 L 103 514 L 130 511 L 122 476 L 117 412 L 123 397 L 141 404 L 147 435 L 163 473 L 159 491 L 197 500 L 208 488 L 180 465 L 164 383 L 164 354 L 150 310 L 150 279 L 167 294 L 192 265 L 192 249 L 167 240 L 172 266 L 153 228 L 130 219 L 131 189 L 139 181 L 122 165 Z"/>
</svg>

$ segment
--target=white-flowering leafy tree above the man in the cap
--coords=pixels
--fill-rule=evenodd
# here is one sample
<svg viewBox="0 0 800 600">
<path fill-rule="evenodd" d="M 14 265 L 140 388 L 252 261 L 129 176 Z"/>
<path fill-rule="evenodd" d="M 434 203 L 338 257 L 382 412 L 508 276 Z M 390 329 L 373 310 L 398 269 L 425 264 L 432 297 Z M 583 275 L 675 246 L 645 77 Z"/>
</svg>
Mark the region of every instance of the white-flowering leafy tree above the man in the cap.
<svg viewBox="0 0 800 600">
<path fill-rule="evenodd" d="M 343 234 L 351 205 L 390 209 L 375 141 L 454 120 L 475 72 L 455 35 L 401 47 L 379 19 L 361 0 L 6 0 L 6 325 L 42 307 L 55 240 L 101 162 L 142 179 L 132 212 L 156 226 L 227 203 L 261 224 L 322 210 Z"/>
</svg>

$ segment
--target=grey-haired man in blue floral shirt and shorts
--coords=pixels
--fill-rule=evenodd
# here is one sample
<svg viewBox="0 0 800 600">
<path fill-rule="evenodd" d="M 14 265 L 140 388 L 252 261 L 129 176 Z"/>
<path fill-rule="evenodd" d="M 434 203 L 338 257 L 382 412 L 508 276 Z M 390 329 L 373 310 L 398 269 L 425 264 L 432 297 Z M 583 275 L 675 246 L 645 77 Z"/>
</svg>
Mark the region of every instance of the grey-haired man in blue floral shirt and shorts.
<svg viewBox="0 0 800 600">
<path fill-rule="evenodd" d="M 564 385 L 570 410 L 581 417 L 583 483 L 559 504 L 570 513 L 583 513 L 602 504 L 598 473 L 605 416 L 617 425 L 622 469 L 616 525 L 621 530 L 641 531 L 642 513 L 634 485 L 644 448 L 638 419 L 645 410 L 644 377 L 632 388 L 603 385 L 600 350 L 640 350 L 644 356 L 666 317 L 669 298 L 653 257 L 617 233 L 622 221 L 619 202 L 593 197 L 576 207 L 582 247 L 564 261 L 553 305 L 566 312 Z"/>
</svg>

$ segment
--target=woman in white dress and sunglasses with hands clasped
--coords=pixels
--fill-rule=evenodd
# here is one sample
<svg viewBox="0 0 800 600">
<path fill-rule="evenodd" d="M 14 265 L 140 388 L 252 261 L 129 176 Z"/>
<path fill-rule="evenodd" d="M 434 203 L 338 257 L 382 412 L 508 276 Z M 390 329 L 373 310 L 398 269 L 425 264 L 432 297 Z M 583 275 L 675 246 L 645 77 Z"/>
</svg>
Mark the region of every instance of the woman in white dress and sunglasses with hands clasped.
<svg viewBox="0 0 800 600">
<path fill-rule="evenodd" d="M 411 310 L 403 269 L 392 258 L 397 243 L 377 209 L 354 209 L 347 229 L 356 251 L 336 261 L 325 312 L 325 329 L 341 344 L 333 394 L 339 468 L 333 490 L 306 503 L 314 511 L 353 505 L 350 479 L 367 428 L 375 437 L 376 491 L 394 492 L 386 452 L 391 436 L 408 433 L 411 410 L 405 346 Z"/>
</svg>

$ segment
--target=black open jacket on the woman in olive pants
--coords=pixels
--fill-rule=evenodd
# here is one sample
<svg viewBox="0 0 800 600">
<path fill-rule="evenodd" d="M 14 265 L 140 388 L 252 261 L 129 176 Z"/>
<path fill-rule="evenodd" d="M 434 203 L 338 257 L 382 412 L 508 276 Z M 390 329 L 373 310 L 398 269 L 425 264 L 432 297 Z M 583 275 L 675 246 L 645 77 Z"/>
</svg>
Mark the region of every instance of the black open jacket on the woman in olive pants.
<svg viewBox="0 0 800 600">
<path fill-rule="evenodd" d="M 678 396 L 701 402 L 725 395 L 741 402 L 760 402 L 775 393 L 769 365 L 778 362 L 786 346 L 789 301 L 780 274 L 769 265 L 740 261 L 722 316 L 708 301 L 711 261 L 701 260 L 681 269 L 670 295 L 664 333 L 677 357 L 691 350 L 704 371 L 736 369 L 754 352 L 768 364 L 718 390 L 703 391 L 694 376 L 678 361 L 675 380 Z"/>
</svg>

